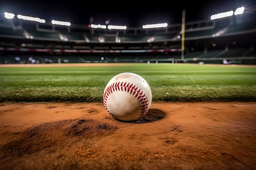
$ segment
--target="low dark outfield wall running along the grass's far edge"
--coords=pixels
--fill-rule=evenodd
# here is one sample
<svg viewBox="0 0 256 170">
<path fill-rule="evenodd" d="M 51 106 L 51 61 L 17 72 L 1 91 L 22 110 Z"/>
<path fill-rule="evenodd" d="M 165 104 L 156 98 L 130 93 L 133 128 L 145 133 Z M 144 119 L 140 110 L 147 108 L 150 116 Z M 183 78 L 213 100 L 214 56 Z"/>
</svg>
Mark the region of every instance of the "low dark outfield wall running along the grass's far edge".
<svg viewBox="0 0 256 170">
<path fill-rule="evenodd" d="M 19 59 L 19 60 L 18 60 Z M 17 59 L 12 56 L 0 56 L 1 64 L 40 64 L 40 63 L 198 63 L 198 64 L 223 64 L 226 59 L 231 64 L 256 64 L 256 57 L 211 57 L 211 58 L 186 58 L 182 60 L 179 56 L 175 58 L 161 58 L 159 56 L 136 57 L 136 56 L 121 56 L 121 57 L 105 57 L 91 56 L 20 56 Z"/>
</svg>

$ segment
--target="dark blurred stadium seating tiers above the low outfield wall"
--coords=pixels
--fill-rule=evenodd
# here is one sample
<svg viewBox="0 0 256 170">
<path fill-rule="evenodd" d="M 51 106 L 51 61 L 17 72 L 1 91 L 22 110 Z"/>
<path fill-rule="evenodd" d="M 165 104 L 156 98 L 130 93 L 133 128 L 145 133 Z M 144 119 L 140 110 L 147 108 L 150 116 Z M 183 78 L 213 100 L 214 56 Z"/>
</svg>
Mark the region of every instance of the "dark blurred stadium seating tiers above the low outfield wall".
<svg viewBox="0 0 256 170">
<path fill-rule="evenodd" d="M 248 57 L 250 54 L 249 57 L 256 57 L 255 23 L 256 19 L 251 17 L 243 17 L 243 20 L 233 17 L 187 22 L 184 33 L 186 58 L 193 59 L 201 55 L 208 58 L 216 56 L 215 53 L 219 56 L 232 48 L 245 50 L 241 54 L 233 52 L 233 56 L 241 56 L 243 53 L 243 56 Z M 72 24 L 67 27 L 2 18 L 0 53 L 91 56 L 92 53 L 102 56 L 116 53 L 115 55 L 158 55 L 157 58 L 161 55 L 161 58 L 178 58 L 181 51 L 181 29 L 181 23 L 155 29 L 134 27 L 126 30 L 103 30 L 86 25 Z M 214 52 L 210 53 L 213 49 Z"/>
</svg>

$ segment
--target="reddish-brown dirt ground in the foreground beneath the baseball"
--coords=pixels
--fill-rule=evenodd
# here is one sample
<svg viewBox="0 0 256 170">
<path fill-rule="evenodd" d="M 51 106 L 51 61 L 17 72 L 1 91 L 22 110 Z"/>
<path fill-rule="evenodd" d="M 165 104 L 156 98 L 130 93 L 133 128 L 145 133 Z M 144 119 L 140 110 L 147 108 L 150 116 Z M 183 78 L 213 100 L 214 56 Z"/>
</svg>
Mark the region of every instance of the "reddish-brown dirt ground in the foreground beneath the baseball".
<svg viewBox="0 0 256 170">
<path fill-rule="evenodd" d="M 255 170 L 256 102 L 152 103 L 135 122 L 99 103 L 2 103 L 0 170 Z"/>
</svg>

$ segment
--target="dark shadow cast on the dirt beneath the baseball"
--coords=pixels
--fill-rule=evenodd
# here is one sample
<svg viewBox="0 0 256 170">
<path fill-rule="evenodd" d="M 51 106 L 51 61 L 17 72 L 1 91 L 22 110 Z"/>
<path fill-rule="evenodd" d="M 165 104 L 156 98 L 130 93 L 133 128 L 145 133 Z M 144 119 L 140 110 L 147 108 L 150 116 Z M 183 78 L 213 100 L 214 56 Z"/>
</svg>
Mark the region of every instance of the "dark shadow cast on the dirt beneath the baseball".
<svg viewBox="0 0 256 170">
<path fill-rule="evenodd" d="M 153 121 L 158 121 L 160 119 L 163 119 L 166 117 L 166 113 L 164 113 L 162 110 L 157 109 L 157 108 L 151 108 L 148 110 L 146 115 L 142 117 L 141 119 L 135 120 L 135 121 L 121 121 L 121 122 L 127 122 L 127 123 L 132 123 L 134 122 L 135 124 L 144 124 L 148 122 L 153 122 Z"/>
</svg>

